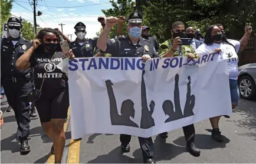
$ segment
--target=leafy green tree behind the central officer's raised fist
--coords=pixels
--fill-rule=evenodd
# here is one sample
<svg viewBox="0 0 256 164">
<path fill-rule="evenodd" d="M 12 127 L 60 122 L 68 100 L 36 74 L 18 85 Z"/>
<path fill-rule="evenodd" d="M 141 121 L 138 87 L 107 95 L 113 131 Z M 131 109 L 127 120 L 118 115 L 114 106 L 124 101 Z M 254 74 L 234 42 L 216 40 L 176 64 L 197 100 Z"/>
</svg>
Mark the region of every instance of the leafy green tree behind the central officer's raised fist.
<svg viewBox="0 0 256 164">
<path fill-rule="evenodd" d="M 110 0 L 110 2 L 113 8 L 101 10 L 106 17 L 126 16 L 126 18 L 128 18 L 128 16 L 132 14 L 132 12 L 134 11 L 134 8 L 133 8 L 134 2 L 132 0 L 117 0 L 117 2 Z M 111 29 L 109 33 L 110 38 L 114 38 L 116 36 L 116 29 L 117 29 L 117 25 Z M 126 23 L 123 24 L 123 32 L 124 32 L 124 35 L 127 35 Z"/>
</svg>

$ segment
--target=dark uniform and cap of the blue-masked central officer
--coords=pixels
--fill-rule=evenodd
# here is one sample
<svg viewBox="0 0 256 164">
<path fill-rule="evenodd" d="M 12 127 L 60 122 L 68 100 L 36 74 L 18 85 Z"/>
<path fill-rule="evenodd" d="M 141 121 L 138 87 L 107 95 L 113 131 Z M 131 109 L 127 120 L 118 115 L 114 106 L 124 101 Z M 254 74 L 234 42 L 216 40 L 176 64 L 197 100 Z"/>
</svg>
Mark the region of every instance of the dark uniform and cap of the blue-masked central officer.
<svg viewBox="0 0 256 164">
<path fill-rule="evenodd" d="M 130 23 L 142 23 L 142 15 L 138 12 L 133 12 L 127 22 Z M 108 39 L 107 49 L 103 56 L 106 57 L 142 57 L 143 55 L 149 55 L 151 58 L 158 57 L 152 43 L 146 39 L 140 37 L 136 45 L 132 43 L 129 37 L 119 36 L 118 39 Z M 123 152 L 130 151 L 130 135 L 120 135 L 120 142 L 122 143 Z M 139 137 L 140 148 L 142 149 L 142 155 L 144 163 L 155 163 L 153 160 L 153 140 L 152 138 Z"/>
</svg>

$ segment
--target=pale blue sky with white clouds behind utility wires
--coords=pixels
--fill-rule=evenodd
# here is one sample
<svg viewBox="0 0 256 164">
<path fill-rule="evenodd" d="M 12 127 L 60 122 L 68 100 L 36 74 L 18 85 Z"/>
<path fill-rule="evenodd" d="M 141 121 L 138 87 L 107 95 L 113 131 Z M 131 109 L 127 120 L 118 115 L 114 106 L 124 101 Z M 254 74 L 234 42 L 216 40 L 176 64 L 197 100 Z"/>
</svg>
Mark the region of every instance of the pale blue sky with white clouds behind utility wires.
<svg viewBox="0 0 256 164">
<path fill-rule="evenodd" d="M 32 0 L 14 0 L 11 14 L 21 16 L 34 24 L 33 5 L 30 6 L 29 2 Z M 36 16 L 37 24 L 42 28 L 59 28 L 60 31 L 59 24 L 65 24 L 63 33 L 65 35 L 73 34 L 72 41 L 74 41 L 76 39 L 74 26 L 78 22 L 83 22 L 86 25 L 86 38 L 93 38 L 101 28 L 97 21 L 99 16 L 104 16 L 101 9 L 109 8 L 111 8 L 109 0 L 38 0 L 36 12 L 41 11 L 42 15 Z M 70 38 L 70 36 L 68 37 Z"/>
</svg>

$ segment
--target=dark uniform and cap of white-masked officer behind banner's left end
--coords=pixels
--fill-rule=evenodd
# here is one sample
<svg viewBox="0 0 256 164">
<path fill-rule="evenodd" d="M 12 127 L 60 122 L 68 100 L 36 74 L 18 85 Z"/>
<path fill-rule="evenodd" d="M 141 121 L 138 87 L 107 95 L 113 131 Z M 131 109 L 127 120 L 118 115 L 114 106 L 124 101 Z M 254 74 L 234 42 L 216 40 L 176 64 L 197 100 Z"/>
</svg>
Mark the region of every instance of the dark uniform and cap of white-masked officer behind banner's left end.
<svg viewBox="0 0 256 164">
<path fill-rule="evenodd" d="M 86 29 L 86 25 L 84 25 L 82 22 L 78 22 L 75 26 L 74 29 Z M 93 39 L 86 39 L 84 38 L 83 43 L 78 43 L 77 38 L 75 41 L 70 43 L 70 49 L 72 49 L 74 55 L 76 58 L 83 58 L 83 57 L 93 57 L 94 52 L 96 51 L 97 48 L 97 41 L 98 38 L 93 38 Z"/>
</svg>

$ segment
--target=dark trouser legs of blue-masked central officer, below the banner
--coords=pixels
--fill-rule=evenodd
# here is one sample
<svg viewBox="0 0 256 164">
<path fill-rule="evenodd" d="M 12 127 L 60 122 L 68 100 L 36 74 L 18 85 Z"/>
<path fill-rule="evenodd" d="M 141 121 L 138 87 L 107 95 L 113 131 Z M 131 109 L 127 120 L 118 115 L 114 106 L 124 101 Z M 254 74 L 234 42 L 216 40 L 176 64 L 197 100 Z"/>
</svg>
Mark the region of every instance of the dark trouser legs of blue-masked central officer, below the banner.
<svg viewBox="0 0 256 164">
<path fill-rule="evenodd" d="M 152 138 L 139 138 L 140 142 L 140 149 L 142 149 L 142 156 L 143 159 L 146 160 L 148 158 L 151 158 L 154 153 L 154 143 Z M 132 136 L 130 135 L 120 135 L 120 142 L 122 143 L 123 146 L 126 146 L 130 143 L 132 139 Z"/>
</svg>

